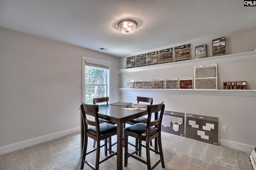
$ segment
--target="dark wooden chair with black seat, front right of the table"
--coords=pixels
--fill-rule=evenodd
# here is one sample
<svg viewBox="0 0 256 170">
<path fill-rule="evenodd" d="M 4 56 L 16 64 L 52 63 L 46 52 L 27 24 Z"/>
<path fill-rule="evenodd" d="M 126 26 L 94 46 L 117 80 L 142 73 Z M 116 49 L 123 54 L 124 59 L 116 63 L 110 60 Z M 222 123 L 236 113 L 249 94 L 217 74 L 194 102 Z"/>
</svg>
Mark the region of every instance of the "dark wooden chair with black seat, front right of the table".
<svg viewBox="0 0 256 170">
<path fill-rule="evenodd" d="M 160 162 L 162 163 L 162 168 L 165 168 L 164 166 L 164 156 L 163 156 L 163 150 L 162 150 L 162 143 L 161 143 L 161 123 L 162 123 L 162 117 L 164 114 L 164 102 L 156 105 L 148 105 L 147 111 L 148 111 L 148 119 L 147 123 L 136 123 L 134 125 L 131 125 L 129 127 L 126 127 L 124 129 L 124 166 L 126 167 L 128 165 L 128 157 L 135 158 L 136 160 L 139 160 L 140 162 L 143 162 L 144 164 L 147 164 L 148 170 L 153 170 Z M 152 113 L 159 113 L 160 115 L 158 119 L 151 121 Z M 129 153 L 128 152 L 128 137 L 134 137 L 136 139 L 139 139 L 139 147 L 135 149 L 134 152 Z M 154 150 L 150 148 L 150 141 L 152 139 L 158 140 L 158 150 Z M 141 141 L 146 142 L 146 146 L 142 145 Z M 141 156 L 141 149 L 142 147 L 146 148 L 146 161 L 138 156 L 135 156 L 134 153 L 139 152 L 139 156 Z M 156 155 L 160 155 L 160 159 L 151 166 L 150 164 L 150 150 L 157 153 Z"/>
</svg>

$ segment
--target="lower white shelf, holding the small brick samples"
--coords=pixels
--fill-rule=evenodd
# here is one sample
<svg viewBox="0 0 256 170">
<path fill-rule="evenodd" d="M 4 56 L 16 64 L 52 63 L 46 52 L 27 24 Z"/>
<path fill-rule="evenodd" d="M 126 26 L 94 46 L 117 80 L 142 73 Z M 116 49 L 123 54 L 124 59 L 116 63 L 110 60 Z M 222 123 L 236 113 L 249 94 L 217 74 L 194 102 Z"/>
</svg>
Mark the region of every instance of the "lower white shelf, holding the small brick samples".
<svg viewBox="0 0 256 170">
<path fill-rule="evenodd" d="M 182 89 L 130 89 L 118 88 L 118 92 L 188 94 L 212 96 L 256 96 L 256 90 L 182 90 Z"/>
</svg>

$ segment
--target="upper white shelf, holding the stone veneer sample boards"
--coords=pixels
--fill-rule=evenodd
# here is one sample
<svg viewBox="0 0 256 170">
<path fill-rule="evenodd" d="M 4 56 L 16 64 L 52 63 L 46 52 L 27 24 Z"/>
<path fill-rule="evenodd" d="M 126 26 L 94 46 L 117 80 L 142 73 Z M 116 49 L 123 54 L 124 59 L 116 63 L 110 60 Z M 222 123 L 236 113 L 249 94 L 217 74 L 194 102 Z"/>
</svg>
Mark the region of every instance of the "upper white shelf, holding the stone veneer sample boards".
<svg viewBox="0 0 256 170">
<path fill-rule="evenodd" d="M 195 65 L 202 65 L 202 64 L 225 63 L 225 62 L 243 61 L 243 60 L 251 60 L 251 59 L 256 59 L 256 49 L 252 52 L 246 52 L 246 53 L 222 55 L 217 57 L 207 57 L 203 59 L 193 59 L 193 60 L 187 60 L 187 61 L 178 61 L 174 63 L 164 63 L 164 64 L 156 64 L 156 65 L 141 66 L 141 67 L 134 67 L 134 68 L 125 68 L 125 69 L 118 70 L 117 73 L 122 74 L 126 72 L 137 72 L 137 71 L 164 69 L 164 68 L 195 66 Z"/>
</svg>

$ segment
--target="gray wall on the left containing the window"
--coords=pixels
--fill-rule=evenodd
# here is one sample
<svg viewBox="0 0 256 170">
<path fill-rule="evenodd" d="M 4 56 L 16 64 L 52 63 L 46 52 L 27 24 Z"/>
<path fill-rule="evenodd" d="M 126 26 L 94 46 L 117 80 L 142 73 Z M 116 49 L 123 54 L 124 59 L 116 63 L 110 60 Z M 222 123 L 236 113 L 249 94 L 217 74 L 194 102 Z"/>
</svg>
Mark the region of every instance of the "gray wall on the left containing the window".
<svg viewBox="0 0 256 170">
<path fill-rule="evenodd" d="M 0 154 L 80 131 L 82 56 L 111 62 L 117 102 L 120 58 L 0 27 Z"/>
</svg>

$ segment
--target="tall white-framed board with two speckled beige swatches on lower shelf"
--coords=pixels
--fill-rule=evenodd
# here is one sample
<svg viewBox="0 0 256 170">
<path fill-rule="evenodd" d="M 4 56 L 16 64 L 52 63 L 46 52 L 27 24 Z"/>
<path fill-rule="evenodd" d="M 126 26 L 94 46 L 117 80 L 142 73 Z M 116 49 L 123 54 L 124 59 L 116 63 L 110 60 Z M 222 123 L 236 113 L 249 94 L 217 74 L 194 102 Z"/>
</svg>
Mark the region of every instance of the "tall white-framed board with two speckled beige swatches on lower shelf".
<svg viewBox="0 0 256 170">
<path fill-rule="evenodd" d="M 217 64 L 194 66 L 194 89 L 217 89 Z"/>
</svg>

